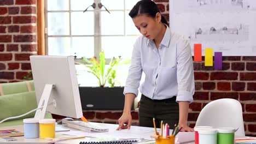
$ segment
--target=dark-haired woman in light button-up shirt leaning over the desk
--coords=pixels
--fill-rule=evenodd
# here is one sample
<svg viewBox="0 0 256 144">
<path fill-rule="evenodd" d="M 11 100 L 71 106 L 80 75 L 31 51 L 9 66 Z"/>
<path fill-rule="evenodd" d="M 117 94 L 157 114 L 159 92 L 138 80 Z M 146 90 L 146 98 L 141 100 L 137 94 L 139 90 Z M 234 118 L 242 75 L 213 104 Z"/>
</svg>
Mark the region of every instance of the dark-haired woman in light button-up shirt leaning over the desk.
<svg viewBox="0 0 256 144">
<path fill-rule="evenodd" d="M 119 129 L 130 129 L 131 106 L 138 94 L 142 71 L 145 80 L 140 87 L 139 125 L 156 127 L 160 122 L 175 123 L 181 131 L 193 131 L 187 125 L 189 104 L 193 102 L 194 71 L 190 45 L 172 33 L 167 21 L 151 0 L 139 1 L 130 11 L 133 23 L 142 34 L 133 47 L 131 67 L 124 88 L 125 105 L 119 118 Z"/>
</svg>

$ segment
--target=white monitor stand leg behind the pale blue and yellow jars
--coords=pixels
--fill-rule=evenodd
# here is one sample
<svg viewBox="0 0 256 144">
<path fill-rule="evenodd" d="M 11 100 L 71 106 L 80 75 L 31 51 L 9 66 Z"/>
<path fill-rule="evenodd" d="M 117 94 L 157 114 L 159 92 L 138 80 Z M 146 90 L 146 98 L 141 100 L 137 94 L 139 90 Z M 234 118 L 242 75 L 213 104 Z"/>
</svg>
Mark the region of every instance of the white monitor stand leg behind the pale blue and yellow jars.
<svg viewBox="0 0 256 144">
<path fill-rule="evenodd" d="M 34 115 L 34 118 L 44 119 L 44 116 L 45 116 L 45 113 L 46 113 L 46 107 L 48 105 L 51 105 L 51 104 L 48 104 L 48 101 L 49 101 L 49 98 L 50 98 L 51 90 L 53 90 L 53 88 L 54 88 L 54 85 L 52 85 L 52 84 L 46 84 L 44 86 L 44 91 L 42 93 L 42 97 L 40 98 L 40 101 L 39 101 L 39 104 L 38 104 L 38 107 L 37 107 L 37 108 L 42 107 L 42 109 L 37 110 L 36 115 Z M 56 101 L 55 100 L 53 101 L 53 105 L 56 107 Z"/>
</svg>

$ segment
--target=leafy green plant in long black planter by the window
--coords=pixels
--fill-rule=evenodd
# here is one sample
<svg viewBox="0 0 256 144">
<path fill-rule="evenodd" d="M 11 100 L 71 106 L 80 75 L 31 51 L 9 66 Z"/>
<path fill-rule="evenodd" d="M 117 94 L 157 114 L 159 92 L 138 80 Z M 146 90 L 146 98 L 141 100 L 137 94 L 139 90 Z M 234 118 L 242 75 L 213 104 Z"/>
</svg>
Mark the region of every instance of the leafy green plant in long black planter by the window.
<svg viewBox="0 0 256 144">
<path fill-rule="evenodd" d="M 130 60 L 112 58 L 106 64 L 104 52 L 100 52 L 100 61 L 96 57 L 87 59 L 82 57 L 88 73 L 97 77 L 98 87 L 79 87 L 80 99 L 84 110 L 123 110 L 124 108 L 124 87 L 116 87 L 118 83 L 116 70 L 120 65 L 129 64 Z M 108 66 L 108 67 L 107 67 Z M 106 83 L 108 82 L 108 87 Z"/>
</svg>

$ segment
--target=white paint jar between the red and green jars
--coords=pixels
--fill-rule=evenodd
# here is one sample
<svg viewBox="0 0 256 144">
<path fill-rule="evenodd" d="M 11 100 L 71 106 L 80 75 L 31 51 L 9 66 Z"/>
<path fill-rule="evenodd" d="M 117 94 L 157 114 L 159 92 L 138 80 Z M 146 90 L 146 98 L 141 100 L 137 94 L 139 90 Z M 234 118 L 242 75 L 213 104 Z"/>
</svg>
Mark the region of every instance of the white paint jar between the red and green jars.
<svg viewBox="0 0 256 144">
<path fill-rule="evenodd" d="M 201 144 L 217 144 L 217 130 L 216 129 L 200 129 L 199 143 Z"/>
</svg>

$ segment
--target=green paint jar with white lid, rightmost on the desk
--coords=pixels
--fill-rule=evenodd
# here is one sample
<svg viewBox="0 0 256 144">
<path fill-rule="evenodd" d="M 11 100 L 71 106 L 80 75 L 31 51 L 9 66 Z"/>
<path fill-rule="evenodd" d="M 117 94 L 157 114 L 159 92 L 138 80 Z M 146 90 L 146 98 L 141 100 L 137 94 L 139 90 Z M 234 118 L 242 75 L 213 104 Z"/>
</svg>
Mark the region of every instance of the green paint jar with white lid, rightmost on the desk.
<svg viewBox="0 0 256 144">
<path fill-rule="evenodd" d="M 218 144 L 233 144 L 235 141 L 234 128 L 219 128 L 217 133 Z"/>
</svg>

